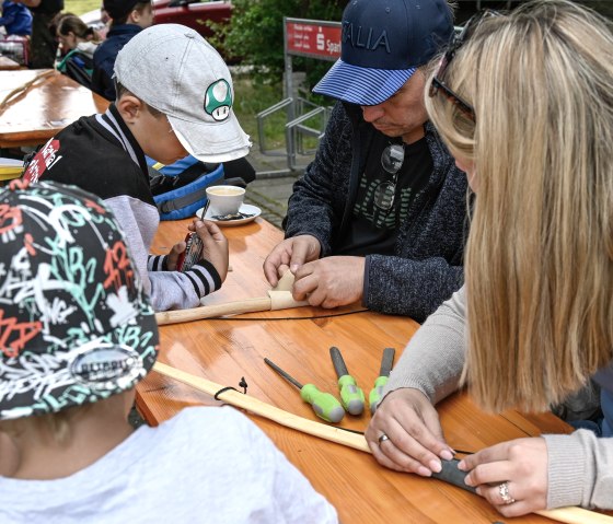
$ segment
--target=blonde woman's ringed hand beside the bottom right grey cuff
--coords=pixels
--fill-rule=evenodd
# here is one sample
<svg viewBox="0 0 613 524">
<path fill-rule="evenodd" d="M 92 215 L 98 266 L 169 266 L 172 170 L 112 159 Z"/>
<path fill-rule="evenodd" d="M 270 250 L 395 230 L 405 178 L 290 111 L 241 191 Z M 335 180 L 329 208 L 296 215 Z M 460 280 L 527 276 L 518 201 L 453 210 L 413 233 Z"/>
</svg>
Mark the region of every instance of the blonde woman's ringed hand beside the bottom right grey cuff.
<svg viewBox="0 0 613 524">
<path fill-rule="evenodd" d="M 458 467 L 470 471 L 465 482 L 505 516 L 547 506 L 547 444 L 540 436 L 486 447 Z"/>
</svg>

